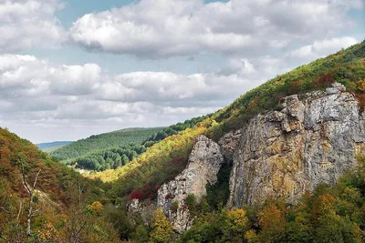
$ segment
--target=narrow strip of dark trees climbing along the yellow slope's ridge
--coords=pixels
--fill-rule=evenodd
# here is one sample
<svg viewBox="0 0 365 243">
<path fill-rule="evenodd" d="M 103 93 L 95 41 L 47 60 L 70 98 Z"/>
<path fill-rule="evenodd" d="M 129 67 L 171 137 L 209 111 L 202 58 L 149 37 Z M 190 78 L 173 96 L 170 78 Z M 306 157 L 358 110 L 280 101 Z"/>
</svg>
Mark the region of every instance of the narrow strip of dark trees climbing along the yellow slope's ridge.
<svg viewBox="0 0 365 243">
<path fill-rule="evenodd" d="M 190 120 L 186 120 L 183 123 L 179 122 L 175 125 L 172 125 L 170 127 L 166 127 L 163 128 L 161 131 L 151 135 L 151 137 L 147 138 L 144 142 L 143 145 L 145 147 L 151 147 L 153 146 L 155 143 L 163 140 L 166 137 L 172 136 L 172 135 L 176 135 L 179 132 L 187 129 L 187 128 L 193 128 L 196 124 L 198 124 L 199 122 L 203 122 L 203 120 L 205 120 L 206 118 L 209 118 L 213 116 L 213 114 L 208 114 L 206 116 L 198 116 L 198 117 L 194 117 Z"/>
</svg>

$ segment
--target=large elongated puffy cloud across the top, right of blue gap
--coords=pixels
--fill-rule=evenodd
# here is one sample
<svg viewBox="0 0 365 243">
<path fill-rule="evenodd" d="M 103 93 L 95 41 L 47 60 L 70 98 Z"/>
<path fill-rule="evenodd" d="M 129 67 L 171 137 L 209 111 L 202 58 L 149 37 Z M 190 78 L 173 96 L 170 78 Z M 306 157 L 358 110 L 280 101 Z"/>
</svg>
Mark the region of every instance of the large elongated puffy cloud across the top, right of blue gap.
<svg viewBox="0 0 365 243">
<path fill-rule="evenodd" d="M 147 58 L 263 53 L 295 40 L 323 38 L 349 26 L 360 0 L 141 0 L 80 17 L 69 37 L 92 51 Z"/>
</svg>

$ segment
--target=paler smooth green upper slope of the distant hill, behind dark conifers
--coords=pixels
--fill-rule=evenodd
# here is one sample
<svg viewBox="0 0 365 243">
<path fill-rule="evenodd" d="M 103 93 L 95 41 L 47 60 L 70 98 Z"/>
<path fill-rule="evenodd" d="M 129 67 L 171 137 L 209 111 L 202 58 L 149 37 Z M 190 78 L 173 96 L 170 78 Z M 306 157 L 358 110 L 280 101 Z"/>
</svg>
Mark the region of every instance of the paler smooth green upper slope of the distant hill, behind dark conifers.
<svg viewBox="0 0 365 243">
<path fill-rule="evenodd" d="M 129 128 L 115 132 L 93 135 L 80 139 L 65 147 L 58 148 L 50 153 L 50 156 L 59 161 L 75 159 L 86 156 L 89 153 L 112 147 L 128 146 L 130 144 L 141 145 L 147 137 L 162 130 L 163 127 L 155 128 Z"/>
</svg>

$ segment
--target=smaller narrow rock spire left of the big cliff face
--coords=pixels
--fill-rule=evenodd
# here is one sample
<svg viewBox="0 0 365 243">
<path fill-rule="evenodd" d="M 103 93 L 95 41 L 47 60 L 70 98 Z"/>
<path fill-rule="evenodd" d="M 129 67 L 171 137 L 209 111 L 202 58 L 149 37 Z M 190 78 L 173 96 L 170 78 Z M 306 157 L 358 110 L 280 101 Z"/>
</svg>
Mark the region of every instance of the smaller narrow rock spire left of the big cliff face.
<svg viewBox="0 0 365 243">
<path fill-rule="evenodd" d="M 217 181 L 217 174 L 223 163 L 224 157 L 218 144 L 207 137 L 199 136 L 189 157 L 188 166 L 174 180 L 160 187 L 157 207 L 163 209 L 177 232 L 183 232 L 192 225 L 193 218 L 185 205 L 186 197 L 193 194 L 200 200 L 206 195 L 205 186 Z"/>
</svg>

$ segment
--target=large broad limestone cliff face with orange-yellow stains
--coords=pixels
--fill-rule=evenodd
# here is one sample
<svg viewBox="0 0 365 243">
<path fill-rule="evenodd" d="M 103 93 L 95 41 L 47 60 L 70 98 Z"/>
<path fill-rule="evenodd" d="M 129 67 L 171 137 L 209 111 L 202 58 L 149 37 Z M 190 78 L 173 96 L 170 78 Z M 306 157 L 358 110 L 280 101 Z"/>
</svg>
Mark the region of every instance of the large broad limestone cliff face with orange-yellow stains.
<svg viewBox="0 0 365 243">
<path fill-rule="evenodd" d="M 281 105 L 219 142 L 233 160 L 228 207 L 270 196 L 294 204 L 306 190 L 333 184 L 365 151 L 365 114 L 344 86 L 287 96 Z"/>
</svg>

